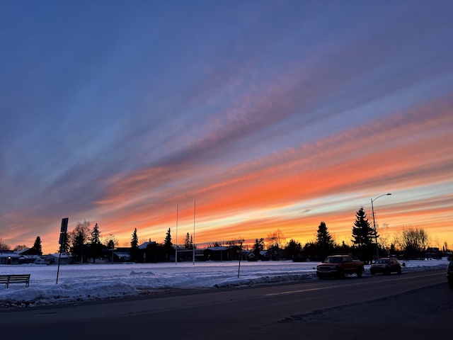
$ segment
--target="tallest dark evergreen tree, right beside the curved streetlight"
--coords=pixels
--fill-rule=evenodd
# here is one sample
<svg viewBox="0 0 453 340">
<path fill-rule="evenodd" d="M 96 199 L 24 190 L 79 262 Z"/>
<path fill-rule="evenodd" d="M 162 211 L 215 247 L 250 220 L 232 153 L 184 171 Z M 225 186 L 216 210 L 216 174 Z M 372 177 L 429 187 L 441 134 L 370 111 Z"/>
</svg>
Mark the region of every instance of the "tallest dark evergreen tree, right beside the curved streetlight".
<svg viewBox="0 0 453 340">
<path fill-rule="evenodd" d="M 352 237 L 353 239 L 351 241 L 357 246 L 357 250 L 361 254 L 363 261 L 365 263 L 370 263 L 372 261 L 372 249 L 374 248 L 374 230 L 369 225 L 367 214 L 363 207 L 360 207 L 355 214 Z"/>
</svg>

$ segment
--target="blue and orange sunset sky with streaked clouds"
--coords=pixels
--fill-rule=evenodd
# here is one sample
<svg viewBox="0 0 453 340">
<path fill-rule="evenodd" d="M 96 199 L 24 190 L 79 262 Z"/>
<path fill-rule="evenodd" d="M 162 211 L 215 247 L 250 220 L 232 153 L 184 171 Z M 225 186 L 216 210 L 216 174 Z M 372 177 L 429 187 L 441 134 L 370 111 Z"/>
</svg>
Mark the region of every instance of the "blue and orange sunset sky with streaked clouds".
<svg viewBox="0 0 453 340">
<path fill-rule="evenodd" d="M 0 3 L 0 239 L 453 246 L 453 1 Z M 178 214 L 177 214 L 178 207 Z M 178 234 L 176 225 L 178 217 Z"/>
</svg>

